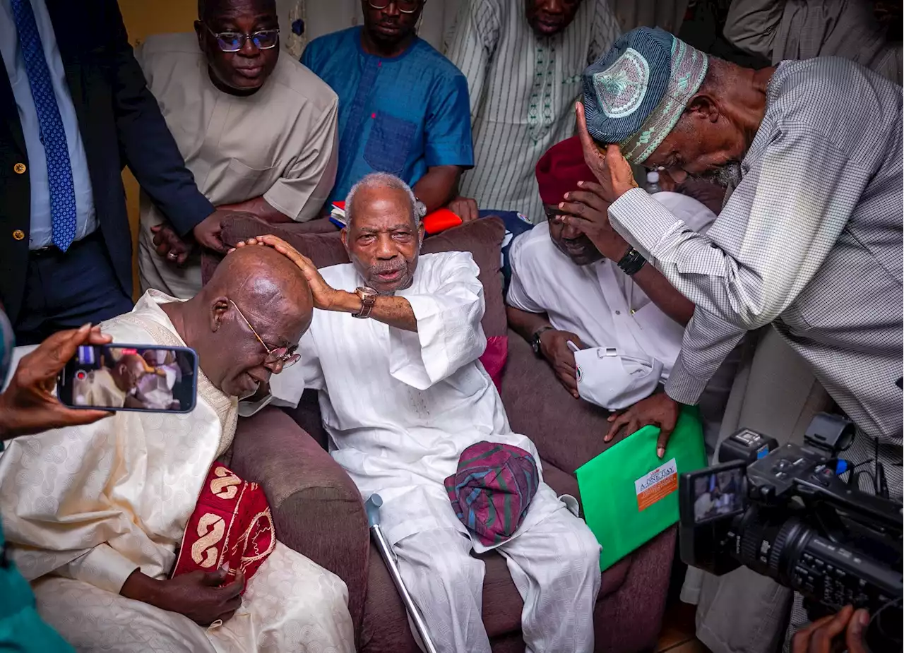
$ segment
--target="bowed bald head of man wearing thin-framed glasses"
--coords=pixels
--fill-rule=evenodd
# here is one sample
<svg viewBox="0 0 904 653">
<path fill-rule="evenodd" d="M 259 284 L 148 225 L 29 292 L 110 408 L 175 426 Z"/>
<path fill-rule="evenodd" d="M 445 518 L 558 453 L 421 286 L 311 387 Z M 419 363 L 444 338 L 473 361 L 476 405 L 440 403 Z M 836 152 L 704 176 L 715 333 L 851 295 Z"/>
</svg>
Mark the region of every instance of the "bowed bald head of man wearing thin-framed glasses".
<svg viewBox="0 0 904 653">
<path fill-rule="evenodd" d="M 250 396 L 282 369 L 311 324 L 314 299 L 301 270 L 272 247 L 228 254 L 199 294 L 179 306 L 186 343 L 204 374 L 231 396 Z"/>
</svg>

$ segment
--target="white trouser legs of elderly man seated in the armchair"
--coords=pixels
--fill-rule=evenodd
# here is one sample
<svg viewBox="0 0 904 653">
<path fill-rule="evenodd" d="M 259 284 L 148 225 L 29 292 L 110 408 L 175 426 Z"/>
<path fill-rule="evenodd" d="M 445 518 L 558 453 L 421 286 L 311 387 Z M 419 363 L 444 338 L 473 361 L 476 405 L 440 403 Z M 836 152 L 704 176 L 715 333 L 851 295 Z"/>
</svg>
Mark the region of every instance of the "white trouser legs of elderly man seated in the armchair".
<svg viewBox="0 0 904 653">
<path fill-rule="evenodd" d="M 490 653 L 481 617 L 484 563 L 451 506 L 448 527 L 393 547 L 405 586 L 439 653 Z M 496 549 L 524 602 L 527 653 L 589 653 L 601 574 L 599 544 L 583 520 L 561 509 Z"/>
</svg>

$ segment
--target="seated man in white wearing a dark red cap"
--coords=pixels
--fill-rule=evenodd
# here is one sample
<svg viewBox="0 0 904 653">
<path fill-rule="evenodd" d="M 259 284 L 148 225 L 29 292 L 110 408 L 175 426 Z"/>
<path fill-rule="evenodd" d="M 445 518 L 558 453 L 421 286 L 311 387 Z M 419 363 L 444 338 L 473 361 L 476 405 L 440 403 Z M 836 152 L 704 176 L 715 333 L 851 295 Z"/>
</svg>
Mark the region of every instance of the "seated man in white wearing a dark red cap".
<svg viewBox="0 0 904 653">
<path fill-rule="evenodd" d="M 619 354 L 661 362 L 659 380 L 664 382 L 681 349 L 693 303 L 654 266 L 644 265 L 614 229 L 597 227 L 608 223 L 593 215 L 605 213 L 608 206 L 584 163 L 577 136 L 553 145 L 537 163 L 536 174 L 548 221 L 513 243 L 508 291 L 512 328 L 549 361 L 576 398 L 583 393 L 573 348 L 615 348 Z M 690 229 L 705 231 L 716 219 L 690 197 L 658 192 L 654 198 L 680 214 Z M 578 226 L 565 225 L 563 215 L 579 218 Z M 711 420 L 720 420 L 732 372 L 727 366 L 724 376 L 715 379 L 709 406 L 702 406 L 708 434 Z"/>
</svg>

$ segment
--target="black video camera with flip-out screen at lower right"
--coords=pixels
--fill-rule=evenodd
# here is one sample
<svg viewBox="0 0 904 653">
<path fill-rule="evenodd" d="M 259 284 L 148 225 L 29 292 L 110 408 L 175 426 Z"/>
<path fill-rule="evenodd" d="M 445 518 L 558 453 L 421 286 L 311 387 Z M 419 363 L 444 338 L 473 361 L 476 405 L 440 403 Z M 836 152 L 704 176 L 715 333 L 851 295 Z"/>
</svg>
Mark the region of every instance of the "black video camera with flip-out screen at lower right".
<svg viewBox="0 0 904 653">
<path fill-rule="evenodd" d="M 854 431 L 819 414 L 804 446 L 732 435 L 719 465 L 682 475 L 681 557 L 711 574 L 743 564 L 767 575 L 822 606 L 811 617 L 865 608 L 871 650 L 904 651 L 904 506 L 858 489 L 855 466 L 839 457 Z"/>
</svg>

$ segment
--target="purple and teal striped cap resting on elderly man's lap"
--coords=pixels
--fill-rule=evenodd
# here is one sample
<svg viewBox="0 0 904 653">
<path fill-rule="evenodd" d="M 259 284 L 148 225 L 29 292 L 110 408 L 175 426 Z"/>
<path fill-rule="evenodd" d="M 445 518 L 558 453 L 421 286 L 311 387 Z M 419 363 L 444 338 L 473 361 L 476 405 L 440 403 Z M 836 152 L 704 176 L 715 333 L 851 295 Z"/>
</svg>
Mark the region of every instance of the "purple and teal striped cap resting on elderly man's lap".
<svg viewBox="0 0 904 653">
<path fill-rule="evenodd" d="M 458 460 L 446 491 L 461 522 L 484 546 L 502 544 L 518 530 L 540 485 L 533 456 L 510 444 L 479 442 Z"/>
</svg>

